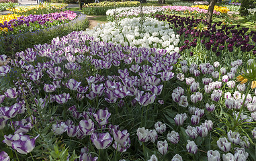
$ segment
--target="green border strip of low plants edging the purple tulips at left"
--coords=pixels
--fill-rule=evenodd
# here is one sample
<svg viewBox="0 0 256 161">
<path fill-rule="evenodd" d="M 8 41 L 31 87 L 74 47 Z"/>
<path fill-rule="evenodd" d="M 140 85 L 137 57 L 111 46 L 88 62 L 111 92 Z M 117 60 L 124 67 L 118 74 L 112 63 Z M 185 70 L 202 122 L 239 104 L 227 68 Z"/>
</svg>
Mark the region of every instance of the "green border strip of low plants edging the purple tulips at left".
<svg viewBox="0 0 256 161">
<path fill-rule="evenodd" d="M 89 26 L 86 15 L 79 15 L 67 23 L 52 26 L 35 32 L 26 32 L 15 36 L 2 36 L 0 38 L 0 54 L 11 54 L 15 51 L 32 48 L 35 44 L 44 44 L 56 36 L 65 36 L 73 31 L 85 30 Z"/>
</svg>

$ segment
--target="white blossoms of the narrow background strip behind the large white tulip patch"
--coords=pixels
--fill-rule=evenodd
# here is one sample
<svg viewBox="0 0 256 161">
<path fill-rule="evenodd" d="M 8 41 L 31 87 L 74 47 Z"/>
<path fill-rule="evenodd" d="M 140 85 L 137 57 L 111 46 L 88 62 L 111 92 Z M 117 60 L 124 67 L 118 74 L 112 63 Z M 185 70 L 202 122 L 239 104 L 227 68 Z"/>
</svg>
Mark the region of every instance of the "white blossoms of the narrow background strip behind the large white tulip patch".
<svg viewBox="0 0 256 161">
<path fill-rule="evenodd" d="M 144 14 L 156 13 L 165 10 L 163 7 L 145 6 L 142 7 Z M 109 9 L 106 15 L 113 16 L 116 13 L 116 17 L 127 17 L 129 15 L 138 16 L 140 15 L 140 7 L 120 7 L 117 9 Z"/>
</svg>

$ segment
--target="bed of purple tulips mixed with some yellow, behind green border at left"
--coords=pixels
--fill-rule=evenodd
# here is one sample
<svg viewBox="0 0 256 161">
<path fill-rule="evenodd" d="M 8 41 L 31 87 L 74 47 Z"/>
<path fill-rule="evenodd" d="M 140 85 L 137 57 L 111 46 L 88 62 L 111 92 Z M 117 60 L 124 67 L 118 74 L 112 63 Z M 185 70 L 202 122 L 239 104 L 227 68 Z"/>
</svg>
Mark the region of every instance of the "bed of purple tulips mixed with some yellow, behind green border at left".
<svg viewBox="0 0 256 161">
<path fill-rule="evenodd" d="M 17 15 L 8 15 L 7 17 L 15 17 L 0 23 L 0 34 L 19 34 L 25 32 L 35 32 L 44 28 L 51 28 L 54 25 L 67 23 L 75 19 L 77 13 L 73 11 L 64 11 L 60 13 L 49 13 L 44 15 L 28 15 L 26 17 Z M 1 21 L 0 21 L 1 22 Z"/>
</svg>

